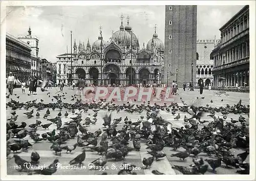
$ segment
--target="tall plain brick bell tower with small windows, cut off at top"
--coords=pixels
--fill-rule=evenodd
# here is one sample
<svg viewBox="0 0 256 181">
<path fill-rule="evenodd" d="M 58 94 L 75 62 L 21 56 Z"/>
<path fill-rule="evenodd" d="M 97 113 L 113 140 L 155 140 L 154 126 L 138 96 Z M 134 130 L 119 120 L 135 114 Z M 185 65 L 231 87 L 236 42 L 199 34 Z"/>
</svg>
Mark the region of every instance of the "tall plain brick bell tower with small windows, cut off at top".
<svg viewBox="0 0 256 181">
<path fill-rule="evenodd" d="M 178 86 L 191 81 L 191 63 L 193 83 L 196 85 L 197 53 L 197 6 L 166 5 L 164 36 L 164 83 L 171 85 L 176 80 Z"/>
</svg>

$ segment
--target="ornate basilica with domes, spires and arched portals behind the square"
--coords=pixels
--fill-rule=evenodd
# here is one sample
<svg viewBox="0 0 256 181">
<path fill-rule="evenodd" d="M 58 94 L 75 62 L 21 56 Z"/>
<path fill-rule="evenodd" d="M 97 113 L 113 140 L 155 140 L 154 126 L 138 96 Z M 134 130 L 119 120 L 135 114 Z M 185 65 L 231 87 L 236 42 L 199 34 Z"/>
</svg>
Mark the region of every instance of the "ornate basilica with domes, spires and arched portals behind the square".
<svg viewBox="0 0 256 181">
<path fill-rule="evenodd" d="M 79 42 L 77 47 L 76 41 L 74 42 L 72 79 L 75 83 L 79 78 L 94 85 L 152 84 L 154 81 L 161 83 L 164 45 L 158 38 L 156 26 L 153 37 L 146 45 L 143 43 L 141 48 L 139 39 L 129 25 L 129 16 L 125 27 L 123 18 L 121 15 L 119 30 L 112 32 L 110 41 L 104 41 L 100 28 L 98 39 L 92 46 L 89 40 L 87 46 Z M 66 69 L 67 82 L 70 82 L 71 63 L 67 63 Z"/>
</svg>

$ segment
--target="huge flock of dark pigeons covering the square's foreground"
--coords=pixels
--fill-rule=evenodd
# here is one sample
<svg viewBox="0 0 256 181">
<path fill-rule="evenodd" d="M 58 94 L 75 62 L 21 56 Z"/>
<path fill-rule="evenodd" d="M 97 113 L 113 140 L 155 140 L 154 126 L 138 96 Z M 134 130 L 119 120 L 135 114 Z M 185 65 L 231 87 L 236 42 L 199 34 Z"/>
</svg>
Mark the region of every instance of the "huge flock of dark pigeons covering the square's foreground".
<svg viewBox="0 0 256 181">
<path fill-rule="evenodd" d="M 142 161 L 143 169 L 150 168 L 154 162 L 161 162 L 161 158 L 166 156 L 163 151 L 164 147 L 173 148 L 174 151 L 182 147 L 185 151 L 177 151 L 177 153 L 170 156 L 178 157 L 184 162 L 188 157 L 193 157 L 193 165 L 177 166 L 172 164 L 174 169 L 183 174 L 204 174 L 207 170 L 216 173 L 216 169 L 221 166 L 237 169 L 237 173 L 240 174 L 249 174 L 249 163 L 244 162 L 249 154 L 249 124 L 243 117 L 245 115 L 249 117 L 249 105 L 243 105 L 241 100 L 238 104 L 227 104 L 225 107 L 219 108 L 211 107 L 208 104 L 206 107 L 187 105 L 182 98 L 182 106 L 178 103 L 158 105 L 150 102 L 143 102 L 140 105 L 127 102 L 123 105 L 117 105 L 113 101 L 106 102 L 105 100 L 82 103 L 76 95 L 72 95 L 71 100 L 74 103 L 66 103 L 64 102 L 67 99 L 66 94 L 53 96 L 55 99 L 47 104 L 42 99 L 39 103 L 36 102 L 37 99 L 27 102 L 11 99 L 7 103 L 7 108 L 9 107 L 12 110 L 6 123 L 7 158 L 10 159 L 10 155 L 12 155 L 10 153 L 14 153 L 15 163 L 19 168 L 17 171 L 44 175 L 51 175 L 57 171 L 56 163 L 59 162 L 58 159 L 55 159 L 49 167 L 44 169 L 31 170 L 24 166 L 24 163 L 37 166 L 40 160 L 40 155 L 34 150 L 31 153 L 31 161 L 26 161 L 16 154 L 17 151 L 25 151 L 32 147 L 32 144 L 24 139 L 29 135 L 34 142 L 51 142 L 52 145 L 49 149 L 56 155 L 60 155 L 62 151 L 71 153 L 77 147 L 82 147 L 82 153 L 70 160 L 70 165 L 82 165 L 86 159 L 87 150 L 95 151 L 101 155 L 99 159 L 92 162 L 97 167 L 106 166 L 108 161 L 113 159 L 116 162 L 125 163 L 125 157 L 129 152 L 139 151 L 141 144 L 146 142 L 147 153 L 151 156 L 144 157 Z M 50 93 L 47 93 L 47 95 L 49 98 L 51 97 Z M 30 125 L 27 125 L 26 121 L 18 125 L 16 124 L 18 116 L 15 111 L 18 109 L 25 110 L 24 115 L 28 119 L 42 116 L 49 123 L 41 124 L 41 121 L 35 120 L 35 123 Z M 82 118 L 81 113 L 88 112 L 89 109 L 93 110 L 94 115 Z M 50 118 L 51 111 L 54 110 L 59 111 L 59 113 L 55 118 Z M 97 124 L 99 110 L 105 112 L 102 128 L 95 130 L 95 132 L 89 132 L 88 126 Z M 130 113 L 138 112 L 139 114 L 145 111 L 146 117 L 144 118 L 141 115 L 136 122 L 128 120 L 127 116 L 124 119 L 122 116 L 113 119 L 112 112 L 119 112 L 120 110 Z M 191 116 L 190 118 L 185 116 L 185 126 L 177 128 L 160 116 L 160 110 L 170 112 L 170 115 L 176 115 L 178 112 L 174 121 L 181 119 L 179 112 L 188 112 Z M 73 117 L 70 117 L 70 121 L 62 122 L 63 112 L 61 113 L 61 111 L 65 112 L 65 118 L 73 115 Z M 221 112 L 223 116 L 216 116 L 217 112 Z M 207 117 L 210 117 L 212 121 L 201 120 L 204 114 L 207 114 Z M 228 114 L 237 114 L 240 117 L 238 120 L 231 118 L 231 122 L 228 122 L 226 120 Z M 117 129 L 117 125 L 120 124 L 122 125 L 121 129 Z M 56 125 L 56 129 L 48 131 L 50 125 Z M 203 125 L 203 127 L 199 129 L 199 125 Z M 44 128 L 46 132 L 37 133 L 38 127 Z M 77 140 L 74 145 L 63 145 L 71 139 Z M 133 147 L 129 146 L 129 143 L 132 143 Z M 232 148 L 243 149 L 244 152 L 233 155 L 230 151 Z M 201 153 L 208 154 L 212 159 L 204 160 L 200 157 Z M 133 171 L 135 165 L 125 164 L 126 167 L 119 170 L 117 174 L 137 174 Z M 152 173 L 165 174 L 158 170 L 153 170 Z M 103 172 L 102 174 L 108 173 Z"/>
</svg>

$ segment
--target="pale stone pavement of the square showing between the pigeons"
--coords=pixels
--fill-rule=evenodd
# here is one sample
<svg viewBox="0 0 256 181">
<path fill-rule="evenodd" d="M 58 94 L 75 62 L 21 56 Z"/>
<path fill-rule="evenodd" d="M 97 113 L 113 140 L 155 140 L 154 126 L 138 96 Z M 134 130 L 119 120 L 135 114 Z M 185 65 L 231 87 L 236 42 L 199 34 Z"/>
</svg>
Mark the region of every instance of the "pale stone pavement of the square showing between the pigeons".
<svg viewBox="0 0 256 181">
<path fill-rule="evenodd" d="M 7 98 L 6 101 L 8 102 L 11 99 L 13 99 L 13 100 L 18 100 L 20 102 L 25 102 L 25 101 L 28 101 L 28 100 L 37 99 L 37 102 L 39 102 L 40 99 L 43 99 L 44 103 L 50 103 L 50 102 L 52 102 L 51 101 L 51 99 L 53 98 L 52 96 L 57 95 L 57 94 L 60 94 L 60 95 L 62 94 L 62 93 L 57 93 L 59 91 L 59 88 L 57 88 L 57 87 L 53 87 L 53 88 L 49 89 L 48 92 L 51 93 L 50 98 L 47 96 L 47 92 L 41 92 L 39 90 L 39 88 L 38 88 L 38 91 L 37 91 L 37 95 L 28 96 L 27 91 L 28 90 L 26 89 L 26 94 L 23 95 L 23 94 L 21 94 L 21 89 L 16 88 L 13 91 L 13 95 L 12 96 L 10 95 L 10 98 Z M 75 101 L 71 101 L 70 99 L 71 99 L 71 95 L 74 95 L 75 92 L 76 91 L 72 90 L 71 87 L 64 87 L 63 88 L 63 93 L 67 93 L 67 94 L 65 94 L 66 95 L 65 97 L 67 99 L 63 100 L 63 102 L 68 102 L 68 103 L 73 102 L 74 103 Z M 233 105 L 233 104 L 237 104 L 237 102 L 240 99 L 242 100 L 242 104 L 246 104 L 246 105 L 249 104 L 249 94 L 248 93 L 228 92 L 229 96 L 221 95 L 221 97 L 219 97 L 219 96 L 216 95 L 216 91 L 214 91 L 214 90 L 204 90 L 203 95 L 200 95 L 199 91 L 197 89 L 195 89 L 195 91 L 193 91 L 193 92 L 190 92 L 190 91 L 187 91 L 187 90 L 185 90 L 185 92 L 183 90 L 179 90 L 178 92 L 179 92 L 179 95 L 175 96 L 175 102 L 178 102 L 179 104 L 182 104 L 181 100 L 180 100 L 180 97 L 182 97 L 182 100 L 185 101 L 185 103 L 187 103 L 187 104 L 193 103 L 193 104 L 197 104 L 198 106 L 199 105 L 206 106 L 207 103 L 211 107 L 226 106 L 226 104 Z M 16 96 L 14 94 L 16 94 Z M 17 96 L 20 96 L 19 99 L 16 98 Z M 197 99 L 197 97 L 199 97 L 199 99 Z M 201 99 L 201 97 L 205 97 L 205 99 Z M 221 101 L 221 99 L 223 99 L 223 102 Z M 210 103 L 210 100 L 212 100 L 213 103 Z M 50 109 L 50 111 L 51 111 L 51 115 L 48 118 L 55 118 L 55 116 L 57 116 L 57 114 L 59 112 L 58 109 L 55 109 L 54 111 Z M 7 115 L 6 115 L 7 119 L 10 118 L 10 112 L 11 112 L 11 110 L 8 107 L 7 108 Z M 25 112 L 25 110 L 23 110 L 23 109 L 22 110 L 16 110 L 16 114 L 18 115 L 18 119 L 17 119 L 16 123 L 19 125 L 22 121 L 25 121 L 27 123 L 26 128 L 28 128 L 28 125 L 32 124 L 32 123 L 35 123 L 36 119 L 35 119 L 35 117 L 33 117 L 31 119 L 27 119 L 26 115 L 24 115 L 23 112 Z M 37 111 L 35 109 L 34 110 L 34 115 L 35 115 L 36 112 Z M 42 122 L 41 124 L 49 123 L 49 121 L 42 118 L 42 116 L 44 116 L 45 112 L 46 112 L 46 109 L 39 111 L 40 118 L 37 119 L 37 120 L 40 120 Z M 63 125 L 63 123 L 69 121 L 70 117 L 75 117 L 75 115 L 72 115 L 71 111 L 68 111 L 68 113 L 69 113 L 68 117 L 69 118 L 64 118 L 65 112 L 66 112 L 65 109 L 63 109 L 61 111 L 62 125 Z M 82 119 L 84 120 L 84 118 L 88 114 L 92 114 L 92 113 L 93 113 L 92 110 L 89 110 L 87 113 L 83 112 L 82 113 Z M 90 125 L 88 127 L 88 130 L 90 132 L 94 132 L 95 130 L 97 130 L 99 128 L 102 130 L 102 128 L 103 128 L 103 126 L 102 126 L 102 123 L 103 123 L 102 117 L 103 117 L 104 114 L 105 114 L 105 111 L 103 111 L 103 110 L 100 110 L 98 112 L 98 117 L 97 117 L 98 121 L 97 121 L 96 125 Z M 108 112 L 108 114 L 110 114 L 110 113 Z M 184 126 L 184 121 L 183 121 L 184 116 L 186 115 L 187 117 L 189 117 L 189 115 L 186 114 L 185 112 L 180 112 L 181 118 L 178 121 L 176 121 L 176 120 L 174 120 L 174 117 L 176 115 L 173 116 L 172 114 L 170 114 L 169 112 L 166 112 L 166 111 L 160 111 L 160 114 L 164 119 L 172 122 L 173 127 Z M 134 121 L 137 121 L 138 118 L 141 115 L 143 115 L 144 119 L 145 119 L 146 112 L 143 111 L 142 114 L 138 114 L 138 113 L 130 114 L 130 113 L 126 113 L 126 112 L 123 112 L 123 111 L 120 111 L 120 113 L 117 113 L 116 111 L 113 111 L 112 115 L 113 115 L 112 116 L 113 119 L 114 118 L 119 118 L 119 117 L 122 117 L 124 119 L 127 116 L 129 120 L 131 119 L 134 122 Z M 219 115 L 217 113 L 216 116 L 222 117 L 221 113 Z M 233 118 L 234 120 L 238 120 L 239 116 L 240 115 L 229 114 L 227 116 L 227 121 L 229 122 L 230 118 Z M 247 115 L 243 114 L 242 116 L 244 116 L 248 120 Z M 117 129 L 121 128 L 121 126 L 123 125 L 123 119 L 122 119 L 121 123 L 118 124 Z M 211 121 L 211 118 L 207 117 L 207 114 L 206 114 L 202 117 L 202 120 Z M 207 123 L 205 123 L 205 124 L 207 124 Z M 203 125 L 200 125 L 200 127 L 203 127 Z M 55 128 L 56 128 L 56 125 L 51 125 L 49 127 L 49 130 L 44 130 L 41 127 L 38 127 L 37 132 L 40 133 L 40 134 L 41 133 L 46 133 L 48 131 L 52 131 Z M 79 134 L 81 134 L 80 131 L 78 132 L 78 135 Z M 30 139 L 29 136 L 27 136 L 25 139 L 28 139 L 29 142 L 33 144 L 33 149 L 39 153 L 39 155 L 40 155 L 40 160 L 39 160 L 40 164 L 39 165 L 48 166 L 57 157 L 59 159 L 59 163 L 62 166 L 68 166 L 69 161 L 71 161 L 74 157 L 76 157 L 78 154 L 81 153 L 81 147 L 77 147 L 71 153 L 67 154 L 66 151 L 64 150 L 64 151 L 61 152 L 61 155 L 55 155 L 55 152 L 50 150 L 50 146 L 52 145 L 50 142 L 41 141 L 39 143 L 34 143 L 34 141 L 32 139 Z M 74 140 L 69 140 L 69 141 L 67 141 L 66 145 L 72 145 L 72 144 L 76 143 L 76 141 L 77 141 L 77 138 L 75 138 Z M 190 164 L 193 164 L 191 157 L 188 157 L 185 162 L 180 161 L 177 157 L 170 157 L 170 155 L 172 153 L 177 153 L 177 151 L 172 151 L 173 148 L 165 147 L 164 152 L 167 155 L 166 157 L 164 157 L 163 159 L 161 159 L 158 162 L 154 161 L 151 168 L 142 169 L 143 157 L 150 157 L 151 155 L 147 154 L 148 150 L 145 149 L 146 145 L 143 142 L 141 142 L 141 143 L 142 144 L 141 144 L 140 151 L 130 152 L 127 155 L 127 157 L 125 157 L 125 161 L 124 161 L 126 163 L 131 163 L 131 164 L 136 165 L 137 167 L 140 167 L 141 170 L 137 170 L 136 171 L 137 174 L 152 174 L 152 170 L 155 170 L 155 169 L 157 169 L 158 171 L 163 172 L 165 174 L 177 174 L 178 172 L 176 170 L 172 169 L 171 164 L 179 165 L 179 166 L 189 166 Z M 130 142 L 129 146 L 133 147 L 132 142 Z M 182 151 L 182 149 L 178 149 L 178 151 Z M 233 151 L 234 155 L 243 152 L 243 150 L 238 150 L 238 149 L 233 149 L 232 151 Z M 20 153 L 18 153 L 18 155 L 21 156 L 23 159 L 25 159 L 27 161 L 30 161 L 31 152 L 32 152 L 32 148 L 29 148 L 28 152 L 20 152 Z M 9 156 L 12 157 L 12 153 Z M 201 153 L 201 154 L 199 154 L 199 156 L 203 157 L 203 158 L 206 157 L 205 153 Z M 68 174 L 68 175 L 72 175 L 72 174 L 76 174 L 76 175 L 101 174 L 103 171 L 89 170 L 88 169 L 88 164 L 91 163 L 92 161 L 94 161 L 95 159 L 99 158 L 99 157 L 100 157 L 100 155 L 98 155 L 96 152 L 92 152 L 92 151 L 90 151 L 90 149 L 88 149 L 86 151 L 86 160 L 84 161 L 84 166 L 86 166 L 86 168 L 83 167 L 83 168 L 76 168 L 76 169 L 58 169 L 55 174 L 60 174 L 60 175 L 62 175 L 62 174 Z M 249 163 L 249 156 L 247 157 L 245 162 Z M 106 166 L 108 166 L 109 168 L 106 168 L 105 172 L 107 172 L 108 174 L 117 174 L 118 168 L 119 168 L 121 163 L 123 163 L 123 162 L 122 161 L 115 162 L 114 160 L 108 160 L 108 163 L 106 164 Z M 113 169 L 113 166 L 114 166 L 113 164 L 115 164 L 115 166 L 116 166 L 114 169 Z M 7 161 L 7 174 L 10 174 L 10 175 L 27 174 L 26 172 L 24 172 L 24 173 L 23 172 L 17 172 L 14 169 L 14 166 L 15 166 L 14 159 L 13 158 L 8 159 L 8 161 Z M 211 172 L 211 169 L 208 169 L 206 174 L 213 174 L 213 173 Z M 236 174 L 236 169 L 218 168 L 217 169 L 217 174 Z"/>
</svg>

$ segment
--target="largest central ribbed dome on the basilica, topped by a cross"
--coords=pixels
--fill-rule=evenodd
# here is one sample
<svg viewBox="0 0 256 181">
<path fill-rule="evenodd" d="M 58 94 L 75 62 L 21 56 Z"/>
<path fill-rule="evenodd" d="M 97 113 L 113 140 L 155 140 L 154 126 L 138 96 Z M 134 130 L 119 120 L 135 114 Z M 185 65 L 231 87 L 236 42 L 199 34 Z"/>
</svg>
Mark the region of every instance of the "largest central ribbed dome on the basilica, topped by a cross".
<svg viewBox="0 0 256 181">
<path fill-rule="evenodd" d="M 131 34 L 124 30 L 123 23 L 121 23 L 120 30 L 113 34 L 113 39 L 117 44 L 122 43 L 124 46 L 131 45 Z"/>
</svg>

